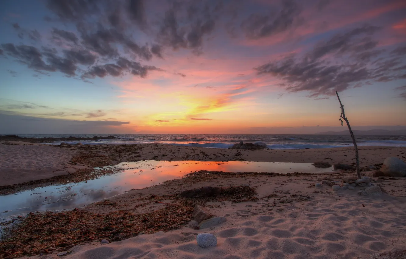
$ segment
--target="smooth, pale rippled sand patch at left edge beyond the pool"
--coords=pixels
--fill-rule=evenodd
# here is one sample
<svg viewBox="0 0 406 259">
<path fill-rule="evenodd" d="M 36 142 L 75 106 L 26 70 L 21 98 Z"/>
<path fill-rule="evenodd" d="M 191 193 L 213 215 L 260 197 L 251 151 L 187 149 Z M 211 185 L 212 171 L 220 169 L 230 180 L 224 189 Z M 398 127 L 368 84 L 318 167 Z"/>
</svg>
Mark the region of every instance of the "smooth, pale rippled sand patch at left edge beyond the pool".
<svg viewBox="0 0 406 259">
<path fill-rule="evenodd" d="M 0 145 L 0 186 L 76 173 L 87 166 L 69 161 L 75 149 L 21 142 Z"/>
</svg>

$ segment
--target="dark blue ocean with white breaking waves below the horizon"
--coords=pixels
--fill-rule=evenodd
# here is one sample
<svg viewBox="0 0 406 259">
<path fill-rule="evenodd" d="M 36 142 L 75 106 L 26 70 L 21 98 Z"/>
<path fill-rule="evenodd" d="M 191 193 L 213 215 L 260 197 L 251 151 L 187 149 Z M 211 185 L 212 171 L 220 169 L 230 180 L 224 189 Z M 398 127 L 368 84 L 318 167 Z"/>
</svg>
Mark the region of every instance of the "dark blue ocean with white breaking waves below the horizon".
<svg viewBox="0 0 406 259">
<path fill-rule="evenodd" d="M 93 137 L 97 134 L 18 134 L 21 137 Z M 350 135 L 270 135 L 270 134 L 102 134 L 120 139 L 82 140 L 83 144 L 164 143 L 176 146 L 229 148 L 240 141 L 265 142 L 270 149 L 315 149 L 352 146 Z M 358 146 L 406 147 L 406 136 L 356 136 Z M 74 144 L 77 141 L 64 141 Z M 60 142 L 53 142 L 59 145 Z"/>
</svg>

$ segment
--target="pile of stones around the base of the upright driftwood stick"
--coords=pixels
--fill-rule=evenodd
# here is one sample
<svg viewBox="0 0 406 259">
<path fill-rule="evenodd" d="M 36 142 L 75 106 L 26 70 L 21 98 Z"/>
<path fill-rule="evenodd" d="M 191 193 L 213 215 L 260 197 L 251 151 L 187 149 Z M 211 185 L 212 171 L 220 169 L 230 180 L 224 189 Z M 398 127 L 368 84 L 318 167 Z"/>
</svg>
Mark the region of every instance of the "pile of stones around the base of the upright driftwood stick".
<svg viewBox="0 0 406 259">
<path fill-rule="evenodd" d="M 322 183 L 316 183 L 316 188 L 331 187 L 333 191 L 338 190 L 352 190 L 354 191 L 356 187 L 364 187 L 357 193 L 361 196 L 382 196 L 382 190 L 379 186 L 375 185 L 375 179 L 364 176 L 361 179 L 355 177 L 344 177 L 341 181 L 327 181 L 323 180 Z M 365 188 L 366 187 L 366 188 Z"/>
</svg>

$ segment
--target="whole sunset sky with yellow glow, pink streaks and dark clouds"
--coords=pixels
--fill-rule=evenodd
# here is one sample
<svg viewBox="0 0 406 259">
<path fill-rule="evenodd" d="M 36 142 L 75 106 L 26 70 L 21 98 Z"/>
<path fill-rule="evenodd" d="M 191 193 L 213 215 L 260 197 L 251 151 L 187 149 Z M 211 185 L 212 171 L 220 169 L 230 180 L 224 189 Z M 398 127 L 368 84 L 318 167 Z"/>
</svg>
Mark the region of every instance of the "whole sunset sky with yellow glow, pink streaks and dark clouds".
<svg viewBox="0 0 406 259">
<path fill-rule="evenodd" d="M 2 0 L 0 133 L 406 128 L 404 0 Z M 344 125 L 345 126 L 345 125 Z"/>
</svg>

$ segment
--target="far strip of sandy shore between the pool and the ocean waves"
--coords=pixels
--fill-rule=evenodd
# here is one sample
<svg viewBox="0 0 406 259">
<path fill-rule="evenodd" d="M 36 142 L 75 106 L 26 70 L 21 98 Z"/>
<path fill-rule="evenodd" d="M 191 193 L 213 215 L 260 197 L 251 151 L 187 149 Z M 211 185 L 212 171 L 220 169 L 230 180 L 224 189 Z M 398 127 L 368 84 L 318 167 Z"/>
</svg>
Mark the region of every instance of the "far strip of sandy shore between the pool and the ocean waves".
<svg viewBox="0 0 406 259">
<path fill-rule="evenodd" d="M 307 162 L 330 164 L 354 162 L 352 147 L 292 150 L 232 150 L 204 147 L 177 147 L 164 144 L 93 145 L 60 147 L 27 145 L 26 142 L 0 143 L 0 186 L 8 186 L 58 175 L 69 175 L 74 181 L 86 179 L 86 166 L 106 166 L 139 160 Z M 382 163 L 388 156 L 406 159 L 406 147 L 359 148 L 360 166 Z M 90 178 L 89 178 L 90 179 Z M 58 179 L 53 182 L 58 181 Z M 42 181 L 43 182 L 43 181 Z M 32 184 L 32 183 L 31 183 Z"/>
</svg>

